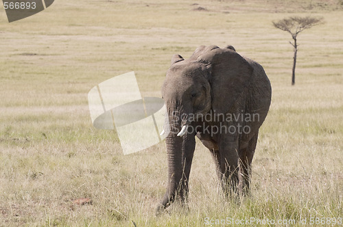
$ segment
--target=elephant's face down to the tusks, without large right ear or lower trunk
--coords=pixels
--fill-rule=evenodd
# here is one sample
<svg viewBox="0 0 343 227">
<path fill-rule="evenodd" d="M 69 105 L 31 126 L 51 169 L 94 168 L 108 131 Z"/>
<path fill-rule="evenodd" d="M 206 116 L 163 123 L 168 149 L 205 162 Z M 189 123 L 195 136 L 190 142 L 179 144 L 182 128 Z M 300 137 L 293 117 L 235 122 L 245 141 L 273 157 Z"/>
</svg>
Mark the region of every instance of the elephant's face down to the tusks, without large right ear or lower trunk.
<svg viewBox="0 0 343 227">
<path fill-rule="evenodd" d="M 190 114 L 206 114 L 211 109 L 209 77 L 209 64 L 172 57 L 162 88 L 171 133 L 184 135 L 191 124 Z"/>
</svg>

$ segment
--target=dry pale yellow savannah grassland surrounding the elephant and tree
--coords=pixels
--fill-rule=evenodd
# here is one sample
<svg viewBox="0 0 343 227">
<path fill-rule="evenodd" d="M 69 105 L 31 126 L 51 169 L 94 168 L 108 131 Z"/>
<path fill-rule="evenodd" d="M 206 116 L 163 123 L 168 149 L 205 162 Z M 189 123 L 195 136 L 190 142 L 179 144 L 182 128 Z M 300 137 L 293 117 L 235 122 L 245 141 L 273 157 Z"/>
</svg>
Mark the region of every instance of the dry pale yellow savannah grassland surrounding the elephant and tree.
<svg viewBox="0 0 343 227">
<path fill-rule="evenodd" d="M 206 217 L 299 226 L 343 218 L 342 9 L 333 0 L 58 0 L 8 23 L 1 8 L 0 226 L 204 226 Z M 309 14 L 326 23 L 298 36 L 291 86 L 291 36 L 272 21 Z M 124 156 L 114 131 L 92 126 L 87 93 L 133 70 L 142 96 L 159 97 L 171 55 L 189 57 L 200 44 L 232 44 L 272 83 L 252 196 L 223 200 L 211 155 L 198 143 L 189 211 L 173 205 L 156 217 L 165 145 Z M 75 204 L 79 198 L 92 202 Z"/>
</svg>

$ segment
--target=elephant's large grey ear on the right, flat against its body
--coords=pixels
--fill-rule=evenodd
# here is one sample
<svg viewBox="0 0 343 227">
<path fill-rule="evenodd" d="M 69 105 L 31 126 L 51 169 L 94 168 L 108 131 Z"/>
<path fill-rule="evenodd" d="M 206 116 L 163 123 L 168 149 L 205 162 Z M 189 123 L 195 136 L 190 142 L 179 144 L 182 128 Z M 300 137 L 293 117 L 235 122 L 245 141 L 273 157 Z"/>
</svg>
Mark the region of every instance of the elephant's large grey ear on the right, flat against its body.
<svg viewBox="0 0 343 227">
<path fill-rule="evenodd" d="M 250 82 L 252 66 L 232 49 L 213 49 L 200 55 L 197 61 L 211 65 L 213 111 L 228 113 Z"/>
</svg>

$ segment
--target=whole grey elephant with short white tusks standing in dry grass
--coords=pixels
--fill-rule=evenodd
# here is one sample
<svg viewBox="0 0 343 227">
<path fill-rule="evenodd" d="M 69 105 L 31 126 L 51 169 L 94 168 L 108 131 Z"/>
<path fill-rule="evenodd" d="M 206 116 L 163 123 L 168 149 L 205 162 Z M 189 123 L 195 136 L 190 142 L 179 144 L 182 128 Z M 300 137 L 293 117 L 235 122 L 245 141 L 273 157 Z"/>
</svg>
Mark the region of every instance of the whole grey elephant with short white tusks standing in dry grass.
<svg viewBox="0 0 343 227">
<path fill-rule="evenodd" d="M 259 127 L 267 116 L 272 96 L 270 81 L 262 66 L 241 57 L 233 46 L 226 46 L 224 49 L 218 46 L 200 46 L 189 59 L 183 59 L 180 55 L 172 57 L 163 83 L 162 96 L 167 107 L 166 121 L 170 126 L 170 133 L 165 139 L 168 185 L 165 196 L 158 204 L 157 213 L 176 199 L 187 202 L 196 136 L 213 155 L 224 193 L 247 193 Z M 190 116 L 201 116 L 200 114 L 258 114 L 259 118 L 189 119 Z M 187 132 L 178 136 L 185 125 Z M 217 126 L 217 129 L 223 129 L 223 126 L 226 129 L 238 129 L 239 125 L 248 126 L 245 129 L 250 131 L 206 131 L 206 127 L 211 129 L 211 126 Z"/>
</svg>

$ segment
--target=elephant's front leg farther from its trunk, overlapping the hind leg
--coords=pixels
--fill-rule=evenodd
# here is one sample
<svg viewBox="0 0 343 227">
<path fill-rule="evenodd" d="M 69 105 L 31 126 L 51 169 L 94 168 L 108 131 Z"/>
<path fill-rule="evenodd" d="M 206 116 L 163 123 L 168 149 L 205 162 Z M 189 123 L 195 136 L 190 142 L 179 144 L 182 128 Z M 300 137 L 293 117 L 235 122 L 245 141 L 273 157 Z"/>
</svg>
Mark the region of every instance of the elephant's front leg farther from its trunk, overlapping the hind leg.
<svg viewBox="0 0 343 227">
<path fill-rule="evenodd" d="M 224 134 L 220 139 L 220 167 L 222 188 L 226 196 L 237 193 L 239 183 L 238 136 Z"/>
</svg>

